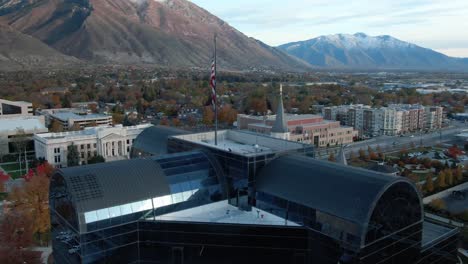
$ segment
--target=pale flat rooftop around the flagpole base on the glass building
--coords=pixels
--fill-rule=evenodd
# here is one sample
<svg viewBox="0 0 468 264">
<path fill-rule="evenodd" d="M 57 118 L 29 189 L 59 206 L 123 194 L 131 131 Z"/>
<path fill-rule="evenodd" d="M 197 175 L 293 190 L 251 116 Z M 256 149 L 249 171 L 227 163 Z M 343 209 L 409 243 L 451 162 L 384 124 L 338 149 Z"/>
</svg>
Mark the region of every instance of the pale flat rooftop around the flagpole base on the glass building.
<svg viewBox="0 0 468 264">
<path fill-rule="evenodd" d="M 215 145 L 214 131 L 173 136 L 180 140 L 196 143 L 215 149 L 253 157 L 267 153 L 278 153 L 310 148 L 302 143 L 292 142 L 270 136 L 240 130 L 218 131 L 218 145 Z"/>
</svg>

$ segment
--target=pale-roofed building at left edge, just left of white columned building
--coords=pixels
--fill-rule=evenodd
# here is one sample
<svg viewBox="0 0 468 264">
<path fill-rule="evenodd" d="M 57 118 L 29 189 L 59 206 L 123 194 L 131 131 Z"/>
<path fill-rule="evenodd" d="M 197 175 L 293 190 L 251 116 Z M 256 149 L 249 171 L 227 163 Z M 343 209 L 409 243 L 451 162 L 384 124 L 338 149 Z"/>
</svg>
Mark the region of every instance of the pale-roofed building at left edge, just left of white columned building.
<svg viewBox="0 0 468 264">
<path fill-rule="evenodd" d="M 33 135 L 48 131 L 43 116 L 0 118 L 0 155 L 19 151 L 31 154 L 34 152 Z"/>
</svg>

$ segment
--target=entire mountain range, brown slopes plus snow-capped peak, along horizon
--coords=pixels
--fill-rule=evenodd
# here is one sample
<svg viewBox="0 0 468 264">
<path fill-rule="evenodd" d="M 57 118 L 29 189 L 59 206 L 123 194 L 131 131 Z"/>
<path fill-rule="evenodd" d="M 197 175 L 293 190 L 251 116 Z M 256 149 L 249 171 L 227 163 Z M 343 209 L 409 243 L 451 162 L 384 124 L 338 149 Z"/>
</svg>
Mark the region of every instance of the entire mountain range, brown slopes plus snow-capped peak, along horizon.
<svg viewBox="0 0 468 264">
<path fill-rule="evenodd" d="M 468 70 L 391 36 L 321 36 L 270 47 L 187 0 L 0 0 L 0 69 L 117 64 L 223 70 Z"/>
</svg>

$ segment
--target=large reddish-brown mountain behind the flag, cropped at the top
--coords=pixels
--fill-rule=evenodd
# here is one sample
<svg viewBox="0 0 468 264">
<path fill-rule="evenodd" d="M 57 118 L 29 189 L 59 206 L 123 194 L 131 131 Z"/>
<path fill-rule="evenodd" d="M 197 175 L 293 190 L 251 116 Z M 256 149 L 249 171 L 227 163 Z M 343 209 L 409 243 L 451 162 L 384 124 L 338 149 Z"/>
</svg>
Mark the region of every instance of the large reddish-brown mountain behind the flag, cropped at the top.
<svg viewBox="0 0 468 264">
<path fill-rule="evenodd" d="M 93 63 L 209 67 L 218 34 L 224 69 L 306 70 L 187 0 L 0 0 L 0 22 Z"/>
</svg>

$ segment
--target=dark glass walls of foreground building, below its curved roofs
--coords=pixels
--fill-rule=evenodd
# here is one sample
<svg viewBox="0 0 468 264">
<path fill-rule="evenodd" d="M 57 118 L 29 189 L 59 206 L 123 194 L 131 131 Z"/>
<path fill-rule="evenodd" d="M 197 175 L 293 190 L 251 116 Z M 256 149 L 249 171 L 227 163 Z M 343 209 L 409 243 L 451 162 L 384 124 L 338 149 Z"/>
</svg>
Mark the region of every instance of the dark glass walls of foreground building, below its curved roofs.
<svg viewBox="0 0 468 264">
<path fill-rule="evenodd" d="M 369 223 L 356 223 L 256 190 L 259 170 L 275 162 L 275 154 L 249 157 L 171 140 L 173 154 L 149 159 L 161 173 L 147 176 L 163 177 L 167 188 L 145 199 L 80 211 L 66 177 L 54 175 L 50 204 L 57 263 L 455 263 L 457 230 L 422 244 L 420 198 L 409 183 L 382 186 L 371 201 Z M 221 211 L 231 221 L 222 223 L 181 213 L 220 201 L 232 211 L 259 209 L 284 222 L 235 222 L 230 210 Z"/>
</svg>

